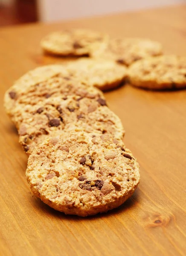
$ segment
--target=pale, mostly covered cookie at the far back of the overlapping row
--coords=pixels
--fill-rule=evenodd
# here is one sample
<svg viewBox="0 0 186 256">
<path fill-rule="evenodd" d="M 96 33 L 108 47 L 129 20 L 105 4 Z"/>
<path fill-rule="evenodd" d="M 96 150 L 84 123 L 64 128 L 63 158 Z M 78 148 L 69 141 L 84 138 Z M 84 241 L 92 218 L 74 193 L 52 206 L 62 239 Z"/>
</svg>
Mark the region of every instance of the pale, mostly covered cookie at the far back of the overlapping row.
<svg viewBox="0 0 186 256">
<path fill-rule="evenodd" d="M 63 65 L 46 65 L 43 67 L 37 67 L 20 77 L 20 79 L 18 79 L 15 84 L 6 91 L 4 96 L 4 107 L 10 118 L 19 98 L 21 96 L 26 97 L 27 93 L 32 90 L 30 87 L 36 87 L 37 84 L 47 81 L 52 77 L 57 77 L 59 74 L 66 79 L 70 77 L 69 72 Z"/>
</svg>

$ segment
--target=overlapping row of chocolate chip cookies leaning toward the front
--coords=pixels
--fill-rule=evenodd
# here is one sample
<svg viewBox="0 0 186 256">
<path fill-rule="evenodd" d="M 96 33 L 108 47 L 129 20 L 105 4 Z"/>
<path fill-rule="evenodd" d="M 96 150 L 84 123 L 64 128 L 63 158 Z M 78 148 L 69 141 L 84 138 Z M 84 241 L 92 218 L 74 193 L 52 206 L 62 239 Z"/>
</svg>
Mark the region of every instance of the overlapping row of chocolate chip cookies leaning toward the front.
<svg viewBox="0 0 186 256">
<path fill-rule="evenodd" d="M 122 123 L 90 78 L 63 65 L 39 67 L 6 92 L 5 108 L 29 154 L 29 186 L 49 206 L 94 215 L 137 188 L 139 165 L 122 142 Z"/>
</svg>

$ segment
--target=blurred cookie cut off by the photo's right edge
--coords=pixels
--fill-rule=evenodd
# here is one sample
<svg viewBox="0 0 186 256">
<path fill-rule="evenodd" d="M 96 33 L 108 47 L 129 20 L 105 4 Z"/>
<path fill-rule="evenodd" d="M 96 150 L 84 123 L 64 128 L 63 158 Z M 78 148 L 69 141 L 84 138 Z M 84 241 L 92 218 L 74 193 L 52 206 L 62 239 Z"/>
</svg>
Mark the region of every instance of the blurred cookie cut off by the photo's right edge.
<svg viewBox="0 0 186 256">
<path fill-rule="evenodd" d="M 186 87 L 186 57 L 163 55 L 132 64 L 128 72 L 132 85 L 151 90 Z"/>
</svg>

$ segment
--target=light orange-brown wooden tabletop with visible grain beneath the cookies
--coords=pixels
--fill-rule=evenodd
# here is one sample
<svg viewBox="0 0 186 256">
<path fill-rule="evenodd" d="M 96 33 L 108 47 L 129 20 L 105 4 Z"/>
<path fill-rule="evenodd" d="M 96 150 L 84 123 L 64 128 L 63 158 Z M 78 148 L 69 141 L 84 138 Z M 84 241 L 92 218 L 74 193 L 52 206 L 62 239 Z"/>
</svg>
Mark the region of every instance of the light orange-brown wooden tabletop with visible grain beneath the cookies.
<svg viewBox="0 0 186 256">
<path fill-rule="evenodd" d="M 27 156 L 4 112 L 3 94 L 26 71 L 55 62 L 42 55 L 39 42 L 47 32 L 70 27 L 148 37 L 160 41 L 166 53 L 186 56 L 186 6 L 0 30 L 0 255 L 185 256 L 186 90 L 150 92 L 126 85 L 105 93 L 140 164 L 141 182 L 122 207 L 72 217 L 31 195 Z"/>
</svg>

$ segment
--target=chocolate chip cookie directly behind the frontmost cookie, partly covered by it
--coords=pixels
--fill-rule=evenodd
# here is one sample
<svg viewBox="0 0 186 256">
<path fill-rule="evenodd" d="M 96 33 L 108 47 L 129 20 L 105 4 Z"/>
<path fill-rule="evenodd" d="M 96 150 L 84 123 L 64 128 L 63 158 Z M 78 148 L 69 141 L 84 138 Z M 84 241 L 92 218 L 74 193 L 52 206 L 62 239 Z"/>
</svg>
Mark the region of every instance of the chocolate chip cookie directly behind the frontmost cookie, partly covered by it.
<svg viewBox="0 0 186 256">
<path fill-rule="evenodd" d="M 88 133 L 111 134 L 122 140 L 124 129 L 121 120 L 98 94 L 51 97 L 45 104 L 27 105 L 21 114 L 18 129 L 19 142 L 27 154 L 47 137 L 61 131 L 83 130 Z M 18 112 L 18 111 L 17 111 Z"/>
</svg>

